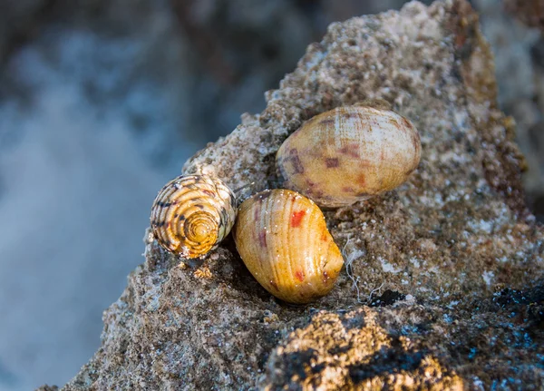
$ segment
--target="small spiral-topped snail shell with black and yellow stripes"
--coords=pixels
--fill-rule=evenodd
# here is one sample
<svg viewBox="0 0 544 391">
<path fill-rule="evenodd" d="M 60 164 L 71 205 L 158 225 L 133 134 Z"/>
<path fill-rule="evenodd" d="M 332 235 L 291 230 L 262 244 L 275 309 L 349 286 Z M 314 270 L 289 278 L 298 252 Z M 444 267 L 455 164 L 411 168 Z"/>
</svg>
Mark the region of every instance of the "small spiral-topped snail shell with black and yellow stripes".
<svg viewBox="0 0 544 391">
<path fill-rule="evenodd" d="M 165 249 L 198 258 L 215 249 L 236 219 L 236 199 L 225 182 L 207 175 L 168 182 L 151 208 L 151 229 Z"/>
</svg>

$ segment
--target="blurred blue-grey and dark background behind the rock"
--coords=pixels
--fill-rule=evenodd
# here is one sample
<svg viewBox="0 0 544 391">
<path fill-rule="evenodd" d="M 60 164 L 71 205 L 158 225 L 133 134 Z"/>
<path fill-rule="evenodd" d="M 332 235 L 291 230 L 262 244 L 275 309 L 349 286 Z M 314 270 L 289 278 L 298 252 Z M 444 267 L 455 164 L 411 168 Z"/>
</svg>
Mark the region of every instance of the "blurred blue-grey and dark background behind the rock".
<svg viewBox="0 0 544 391">
<path fill-rule="evenodd" d="M 143 261 L 160 187 L 260 112 L 327 24 L 403 3 L 0 0 L 0 390 L 74 376 Z M 472 5 L 542 219 L 544 4 Z"/>
</svg>

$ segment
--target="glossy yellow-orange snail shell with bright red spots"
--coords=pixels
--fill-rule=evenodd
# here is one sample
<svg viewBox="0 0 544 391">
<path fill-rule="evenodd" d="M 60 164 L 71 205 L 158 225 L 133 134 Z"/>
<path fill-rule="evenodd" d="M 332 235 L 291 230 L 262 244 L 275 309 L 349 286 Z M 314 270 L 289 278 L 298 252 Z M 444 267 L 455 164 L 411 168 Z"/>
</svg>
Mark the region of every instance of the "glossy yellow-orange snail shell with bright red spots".
<svg viewBox="0 0 544 391">
<path fill-rule="evenodd" d="M 323 213 L 296 191 L 262 191 L 245 200 L 233 233 L 253 277 L 289 303 L 325 296 L 344 264 Z"/>
</svg>

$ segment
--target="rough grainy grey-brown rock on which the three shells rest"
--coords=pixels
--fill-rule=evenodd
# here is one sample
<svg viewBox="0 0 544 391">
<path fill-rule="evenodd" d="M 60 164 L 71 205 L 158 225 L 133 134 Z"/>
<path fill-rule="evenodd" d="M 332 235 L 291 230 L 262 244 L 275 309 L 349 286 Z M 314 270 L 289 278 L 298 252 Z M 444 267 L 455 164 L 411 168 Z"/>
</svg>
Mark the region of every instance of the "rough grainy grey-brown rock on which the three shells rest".
<svg viewBox="0 0 544 391">
<path fill-rule="evenodd" d="M 376 98 L 415 123 L 422 162 L 396 191 L 325 212 L 346 259 L 329 296 L 287 306 L 231 240 L 179 267 L 148 233 L 145 263 L 104 313 L 102 347 L 63 389 L 544 387 L 543 230 L 465 1 L 332 24 L 264 112 L 184 171 L 277 187 L 289 133 Z"/>
</svg>

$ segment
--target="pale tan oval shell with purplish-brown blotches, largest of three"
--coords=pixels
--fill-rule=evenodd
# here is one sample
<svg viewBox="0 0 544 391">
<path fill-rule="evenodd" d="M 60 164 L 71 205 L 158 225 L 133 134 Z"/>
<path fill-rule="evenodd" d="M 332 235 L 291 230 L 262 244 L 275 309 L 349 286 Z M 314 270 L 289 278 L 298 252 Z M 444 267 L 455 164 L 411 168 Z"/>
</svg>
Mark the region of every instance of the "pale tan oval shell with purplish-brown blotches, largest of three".
<svg viewBox="0 0 544 391">
<path fill-rule="evenodd" d="M 277 165 L 287 188 L 334 208 L 394 189 L 420 157 L 412 122 L 389 110 L 357 105 L 305 122 L 279 148 Z"/>
</svg>

